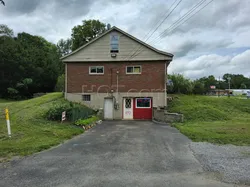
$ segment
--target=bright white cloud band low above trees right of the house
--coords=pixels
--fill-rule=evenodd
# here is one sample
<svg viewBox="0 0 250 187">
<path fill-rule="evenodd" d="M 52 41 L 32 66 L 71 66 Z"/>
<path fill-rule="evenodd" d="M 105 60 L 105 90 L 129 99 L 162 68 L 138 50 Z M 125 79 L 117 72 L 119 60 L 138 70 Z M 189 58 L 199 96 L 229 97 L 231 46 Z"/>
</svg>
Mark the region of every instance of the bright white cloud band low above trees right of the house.
<svg viewBox="0 0 250 187">
<path fill-rule="evenodd" d="M 250 50 L 235 56 L 216 54 L 203 55 L 194 60 L 179 58 L 169 66 L 169 73 L 181 73 L 191 79 L 214 75 L 222 77 L 225 73 L 244 74 L 250 76 Z"/>
</svg>

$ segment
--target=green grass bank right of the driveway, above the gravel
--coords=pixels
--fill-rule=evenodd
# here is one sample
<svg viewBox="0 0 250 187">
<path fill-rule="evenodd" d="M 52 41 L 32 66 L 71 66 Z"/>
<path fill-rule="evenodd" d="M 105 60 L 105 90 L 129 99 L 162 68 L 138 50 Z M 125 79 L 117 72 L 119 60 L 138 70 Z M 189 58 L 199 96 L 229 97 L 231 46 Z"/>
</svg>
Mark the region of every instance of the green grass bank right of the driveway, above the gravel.
<svg viewBox="0 0 250 187">
<path fill-rule="evenodd" d="M 193 141 L 250 145 L 250 100 L 178 95 L 170 111 L 184 114 L 173 124 Z"/>
</svg>

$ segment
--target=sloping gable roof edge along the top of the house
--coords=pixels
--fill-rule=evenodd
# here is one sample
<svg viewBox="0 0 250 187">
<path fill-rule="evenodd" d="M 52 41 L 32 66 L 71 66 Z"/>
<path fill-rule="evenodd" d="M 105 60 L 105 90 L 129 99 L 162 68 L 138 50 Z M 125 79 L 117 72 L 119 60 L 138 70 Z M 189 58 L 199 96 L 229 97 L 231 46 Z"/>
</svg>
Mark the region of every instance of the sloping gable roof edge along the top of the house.
<svg viewBox="0 0 250 187">
<path fill-rule="evenodd" d="M 125 31 L 123 31 L 123 30 L 121 30 L 121 29 L 119 29 L 119 28 L 113 26 L 111 29 L 107 30 L 106 32 L 104 32 L 103 34 L 99 35 L 99 36 L 96 37 L 95 39 L 93 39 L 93 40 L 91 40 L 90 42 L 86 43 L 85 45 L 79 47 L 79 48 L 76 49 L 75 51 L 72 51 L 70 54 L 67 54 L 67 55 L 61 57 L 60 59 L 63 60 L 63 59 L 65 59 L 65 58 L 67 58 L 67 57 L 69 57 L 69 56 L 71 56 L 71 55 L 77 53 L 78 51 L 80 51 L 80 50 L 82 50 L 83 48 L 87 47 L 88 45 L 94 43 L 96 40 L 98 40 L 99 38 L 105 36 L 106 34 L 112 32 L 112 31 L 118 31 L 118 32 L 124 34 L 125 36 L 131 38 L 132 40 L 137 41 L 138 43 L 142 44 L 143 46 L 145 46 L 145 47 L 147 47 L 147 48 L 149 48 L 149 49 L 151 49 L 151 50 L 153 50 L 153 51 L 155 51 L 155 52 L 157 52 L 157 53 L 159 53 L 159 54 L 166 55 L 166 56 L 169 56 L 169 57 L 173 57 L 173 56 L 174 56 L 174 55 L 171 54 L 171 53 L 167 53 L 167 52 L 165 52 L 165 51 L 158 50 L 158 49 L 152 47 L 151 45 L 148 45 L 147 43 L 145 43 L 145 42 L 143 42 L 143 41 L 137 39 L 136 37 L 134 37 L 134 36 L 132 36 L 132 35 L 126 33 Z"/>
</svg>

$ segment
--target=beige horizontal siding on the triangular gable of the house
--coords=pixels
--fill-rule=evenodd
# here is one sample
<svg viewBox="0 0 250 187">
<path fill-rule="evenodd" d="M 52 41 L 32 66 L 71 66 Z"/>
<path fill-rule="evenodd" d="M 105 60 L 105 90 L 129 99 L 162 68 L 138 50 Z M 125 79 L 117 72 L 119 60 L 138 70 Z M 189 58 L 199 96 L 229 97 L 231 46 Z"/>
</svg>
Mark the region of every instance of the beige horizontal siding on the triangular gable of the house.
<svg viewBox="0 0 250 187">
<path fill-rule="evenodd" d="M 117 31 L 116 31 L 117 32 Z M 111 32 L 112 33 L 112 32 Z M 76 52 L 75 54 L 67 57 L 63 61 L 66 62 L 83 62 L 83 61 L 127 61 L 134 51 L 139 50 L 140 53 L 133 58 L 136 60 L 171 60 L 163 54 L 159 54 L 152 49 L 141 45 L 137 41 L 117 32 L 119 35 L 119 53 L 115 58 L 111 57 L 110 53 L 110 34 L 108 33 L 103 37 L 99 38 L 92 44 L 86 46 L 82 50 Z M 138 52 L 137 52 L 138 53 Z"/>
</svg>

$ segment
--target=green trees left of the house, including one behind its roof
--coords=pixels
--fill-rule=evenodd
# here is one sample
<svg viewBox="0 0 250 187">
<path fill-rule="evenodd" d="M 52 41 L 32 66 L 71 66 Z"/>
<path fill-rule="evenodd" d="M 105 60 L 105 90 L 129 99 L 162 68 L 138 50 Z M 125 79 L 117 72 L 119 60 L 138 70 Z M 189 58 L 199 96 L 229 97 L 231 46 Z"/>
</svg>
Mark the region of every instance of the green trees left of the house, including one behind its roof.
<svg viewBox="0 0 250 187">
<path fill-rule="evenodd" d="M 64 64 L 60 57 L 106 31 L 98 20 L 84 20 L 72 28 L 71 38 L 57 44 L 41 36 L 14 32 L 0 24 L 0 97 L 23 99 L 35 93 L 63 91 Z"/>
</svg>

